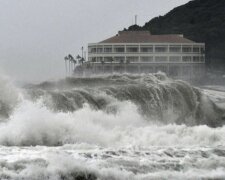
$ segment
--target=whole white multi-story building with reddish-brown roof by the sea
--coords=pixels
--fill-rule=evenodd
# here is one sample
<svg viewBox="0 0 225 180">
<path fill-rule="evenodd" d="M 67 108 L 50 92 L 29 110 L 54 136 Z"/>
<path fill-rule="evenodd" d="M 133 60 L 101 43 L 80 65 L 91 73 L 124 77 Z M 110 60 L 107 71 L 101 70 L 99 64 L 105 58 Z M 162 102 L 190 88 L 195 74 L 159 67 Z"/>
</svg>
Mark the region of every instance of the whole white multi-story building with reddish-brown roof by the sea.
<svg viewBox="0 0 225 180">
<path fill-rule="evenodd" d="M 205 44 L 183 35 L 152 35 L 149 31 L 120 31 L 88 44 L 87 68 L 92 73 L 163 71 L 171 76 L 202 74 Z"/>
</svg>

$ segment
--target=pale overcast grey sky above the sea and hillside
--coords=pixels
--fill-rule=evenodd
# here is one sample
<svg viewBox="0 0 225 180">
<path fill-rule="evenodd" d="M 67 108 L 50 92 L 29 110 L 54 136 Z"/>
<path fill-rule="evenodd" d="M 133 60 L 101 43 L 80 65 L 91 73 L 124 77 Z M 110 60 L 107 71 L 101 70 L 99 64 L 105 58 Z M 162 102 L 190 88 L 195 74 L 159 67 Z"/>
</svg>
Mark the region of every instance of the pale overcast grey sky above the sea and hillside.
<svg viewBox="0 0 225 180">
<path fill-rule="evenodd" d="M 189 0 L 0 0 L 0 74 L 20 81 L 65 76 L 63 57 L 143 25 Z"/>
</svg>

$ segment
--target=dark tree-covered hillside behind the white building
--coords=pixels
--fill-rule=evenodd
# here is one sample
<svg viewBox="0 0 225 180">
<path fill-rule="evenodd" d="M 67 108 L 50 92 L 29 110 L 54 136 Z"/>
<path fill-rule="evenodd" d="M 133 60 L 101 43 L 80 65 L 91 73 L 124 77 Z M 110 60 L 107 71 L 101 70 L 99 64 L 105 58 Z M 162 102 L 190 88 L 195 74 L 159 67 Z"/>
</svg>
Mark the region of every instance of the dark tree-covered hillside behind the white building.
<svg viewBox="0 0 225 180">
<path fill-rule="evenodd" d="M 192 0 L 153 18 L 143 27 L 133 25 L 128 30 L 183 34 L 196 42 L 205 42 L 207 66 L 225 67 L 225 0 Z"/>
</svg>

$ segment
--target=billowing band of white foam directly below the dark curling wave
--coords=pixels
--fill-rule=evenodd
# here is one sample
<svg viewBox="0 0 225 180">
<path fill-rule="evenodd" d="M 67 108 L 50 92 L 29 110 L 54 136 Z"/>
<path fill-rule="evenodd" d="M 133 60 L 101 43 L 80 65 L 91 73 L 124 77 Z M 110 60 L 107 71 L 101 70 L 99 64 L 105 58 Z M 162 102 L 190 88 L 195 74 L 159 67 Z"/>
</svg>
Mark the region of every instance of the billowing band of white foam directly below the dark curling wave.
<svg viewBox="0 0 225 180">
<path fill-rule="evenodd" d="M 108 114 L 88 105 L 75 112 L 53 112 L 41 101 L 24 100 L 9 120 L 0 124 L 3 145 L 60 145 L 89 143 L 99 146 L 212 146 L 225 144 L 225 127 L 155 125 L 147 122 L 129 101 Z"/>
</svg>

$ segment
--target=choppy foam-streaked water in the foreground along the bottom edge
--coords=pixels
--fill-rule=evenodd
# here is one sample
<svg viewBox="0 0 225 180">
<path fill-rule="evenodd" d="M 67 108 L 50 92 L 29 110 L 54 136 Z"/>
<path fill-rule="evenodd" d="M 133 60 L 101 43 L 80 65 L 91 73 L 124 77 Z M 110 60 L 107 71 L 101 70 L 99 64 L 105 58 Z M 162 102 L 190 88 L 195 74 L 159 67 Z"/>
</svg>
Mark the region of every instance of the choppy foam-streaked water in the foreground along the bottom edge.
<svg viewBox="0 0 225 180">
<path fill-rule="evenodd" d="M 210 148 L 150 148 L 146 151 L 148 155 L 142 151 L 121 154 L 114 151 L 116 155 L 107 157 L 109 149 L 77 151 L 73 146 L 15 148 L 17 152 L 0 147 L 1 152 L 9 151 L 4 161 L 0 161 L 0 177 L 14 180 L 61 180 L 76 176 L 101 180 L 225 178 L 225 157 L 214 154 Z M 85 157 L 87 152 L 92 153 L 89 158 Z M 13 154 L 17 160 L 8 161 Z"/>
</svg>

